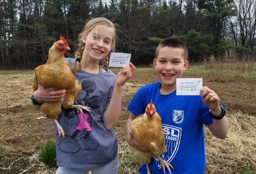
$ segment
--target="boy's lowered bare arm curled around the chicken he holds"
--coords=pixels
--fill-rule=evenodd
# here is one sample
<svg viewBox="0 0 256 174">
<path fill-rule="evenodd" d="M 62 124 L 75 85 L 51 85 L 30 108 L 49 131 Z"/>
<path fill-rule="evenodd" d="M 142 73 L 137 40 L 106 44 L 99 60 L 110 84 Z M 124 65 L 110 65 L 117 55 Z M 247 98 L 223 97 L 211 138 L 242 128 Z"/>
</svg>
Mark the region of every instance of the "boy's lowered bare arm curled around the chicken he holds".
<svg viewBox="0 0 256 174">
<path fill-rule="evenodd" d="M 130 117 L 128 118 L 127 120 L 127 123 L 126 123 L 126 134 L 127 134 L 127 142 L 133 146 L 135 149 L 138 149 L 138 150 L 141 150 L 141 151 L 147 151 L 147 149 L 145 147 L 143 147 L 138 141 L 136 141 L 134 139 L 134 137 L 132 136 L 131 134 L 131 131 L 130 131 L 130 126 L 132 124 L 132 121 L 137 118 L 137 116 L 133 115 L 131 113 Z"/>
</svg>

